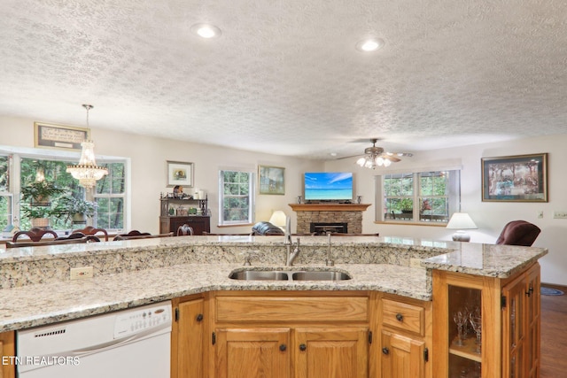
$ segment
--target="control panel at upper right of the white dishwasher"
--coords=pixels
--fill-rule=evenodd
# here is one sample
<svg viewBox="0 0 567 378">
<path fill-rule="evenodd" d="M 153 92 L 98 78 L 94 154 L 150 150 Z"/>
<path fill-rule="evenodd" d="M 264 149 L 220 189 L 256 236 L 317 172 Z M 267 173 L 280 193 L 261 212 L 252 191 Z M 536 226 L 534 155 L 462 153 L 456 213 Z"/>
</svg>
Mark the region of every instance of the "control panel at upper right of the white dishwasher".
<svg viewBox="0 0 567 378">
<path fill-rule="evenodd" d="M 118 312 L 114 321 L 114 338 L 139 334 L 156 328 L 167 328 L 171 326 L 171 320 L 169 302 Z"/>
</svg>

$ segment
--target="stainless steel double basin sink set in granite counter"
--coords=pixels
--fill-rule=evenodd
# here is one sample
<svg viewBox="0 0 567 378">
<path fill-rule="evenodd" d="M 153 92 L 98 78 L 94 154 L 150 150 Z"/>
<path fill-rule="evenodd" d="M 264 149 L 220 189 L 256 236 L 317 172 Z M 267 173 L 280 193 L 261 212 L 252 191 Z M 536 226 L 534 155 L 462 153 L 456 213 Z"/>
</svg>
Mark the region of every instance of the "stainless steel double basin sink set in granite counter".
<svg viewBox="0 0 567 378">
<path fill-rule="evenodd" d="M 345 281 L 353 277 L 339 270 L 258 270 L 237 269 L 229 274 L 241 281 Z"/>
</svg>

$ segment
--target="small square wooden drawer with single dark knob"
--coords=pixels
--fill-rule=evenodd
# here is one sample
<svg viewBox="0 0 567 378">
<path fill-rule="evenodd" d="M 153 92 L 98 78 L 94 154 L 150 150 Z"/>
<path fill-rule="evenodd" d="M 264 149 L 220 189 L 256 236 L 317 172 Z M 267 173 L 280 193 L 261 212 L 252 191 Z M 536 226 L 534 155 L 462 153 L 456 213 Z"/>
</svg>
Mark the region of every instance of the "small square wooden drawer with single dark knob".
<svg viewBox="0 0 567 378">
<path fill-rule="evenodd" d="M 382 324 L 423 336 L 424 309 L 390 299 L 382 299 Z"/>
</svg>

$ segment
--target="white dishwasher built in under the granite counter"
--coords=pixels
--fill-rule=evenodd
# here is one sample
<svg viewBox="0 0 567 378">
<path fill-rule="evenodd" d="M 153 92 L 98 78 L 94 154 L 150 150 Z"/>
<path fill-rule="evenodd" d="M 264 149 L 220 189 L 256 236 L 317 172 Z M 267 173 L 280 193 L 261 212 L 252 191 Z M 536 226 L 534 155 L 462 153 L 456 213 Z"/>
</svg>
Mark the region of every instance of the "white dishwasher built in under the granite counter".
<svg viewBox="0 0 567 378">
<path fill-rule="evenodd" d="M 19 378 L 169 377 L 171 302 L 16 333 Z"/>
</svg>

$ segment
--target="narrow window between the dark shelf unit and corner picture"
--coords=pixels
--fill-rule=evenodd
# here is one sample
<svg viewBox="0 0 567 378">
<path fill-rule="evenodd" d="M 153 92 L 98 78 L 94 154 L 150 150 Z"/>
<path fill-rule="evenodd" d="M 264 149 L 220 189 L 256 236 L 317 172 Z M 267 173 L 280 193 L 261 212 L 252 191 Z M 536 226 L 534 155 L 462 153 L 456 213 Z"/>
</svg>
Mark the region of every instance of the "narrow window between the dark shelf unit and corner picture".
<svg viewBox="0 0 567 378">
<path fill-rule="evenodd" d="M 219 224 L 251 224 L 254 221 L 254 174 L 248 171 L 219 172 Z"/>
</svg>

